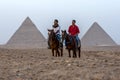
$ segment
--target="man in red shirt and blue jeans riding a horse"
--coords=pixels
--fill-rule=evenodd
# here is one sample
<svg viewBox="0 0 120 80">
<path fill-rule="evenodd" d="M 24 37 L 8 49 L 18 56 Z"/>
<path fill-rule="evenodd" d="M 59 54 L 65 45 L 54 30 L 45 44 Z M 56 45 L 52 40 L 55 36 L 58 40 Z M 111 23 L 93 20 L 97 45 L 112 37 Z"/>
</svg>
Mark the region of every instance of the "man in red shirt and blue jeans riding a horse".
<svg viewBox="0 0 120 80">
<path fill-rule="evenodd" d="M 69 35 L 75 37 L 76 42 L 77 42 L 76 46 L 79 47 L 80 39 L 78 37 L 78 34 L 80 33 L 80 30 L 79 30 L 79 27 L 75 23 L 76 23 L 76 20 L 72 20 L 72 25 L 70 25 L 68 32 L 69 32 Z"/>
</svg>

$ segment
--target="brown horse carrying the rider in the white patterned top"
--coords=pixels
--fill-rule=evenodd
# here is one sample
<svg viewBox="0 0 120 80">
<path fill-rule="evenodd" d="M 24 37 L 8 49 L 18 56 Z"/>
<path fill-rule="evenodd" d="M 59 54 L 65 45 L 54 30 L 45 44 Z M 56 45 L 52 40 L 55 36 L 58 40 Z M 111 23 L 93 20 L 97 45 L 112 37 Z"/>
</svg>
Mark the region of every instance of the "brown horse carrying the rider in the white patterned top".
<svg viewBox="0 0 120 80">
<path fill-rule="evenodd" d="M 48 36 L 48 41 L 52 50 L 52 55 L 53 56 L 58 56 L 62 57 L 63 56 L 63 45 L 60 43 L 56 37 L 56 34 L 54 33 L 53 30 L 48 30 L 49 36 Z M 60 50 L 60 52 L 59 52 Z M 54 51 L 56 51 L 56 55 L 54 55 Z"/>
</svg>

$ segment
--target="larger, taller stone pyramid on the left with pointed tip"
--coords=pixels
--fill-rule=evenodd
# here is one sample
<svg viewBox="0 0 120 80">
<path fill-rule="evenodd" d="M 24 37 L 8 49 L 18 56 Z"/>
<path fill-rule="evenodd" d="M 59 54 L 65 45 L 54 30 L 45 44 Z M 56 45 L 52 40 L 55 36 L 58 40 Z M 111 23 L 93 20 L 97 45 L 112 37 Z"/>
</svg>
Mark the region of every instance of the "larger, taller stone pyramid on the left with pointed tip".
<svg viewBox="0 0 120 80">
<path fill-rule="evenodd" d="M 14 48 L 46 47 L 46 39 L 29 17 L 8 41 L 7 46 Z"/>
</svg>

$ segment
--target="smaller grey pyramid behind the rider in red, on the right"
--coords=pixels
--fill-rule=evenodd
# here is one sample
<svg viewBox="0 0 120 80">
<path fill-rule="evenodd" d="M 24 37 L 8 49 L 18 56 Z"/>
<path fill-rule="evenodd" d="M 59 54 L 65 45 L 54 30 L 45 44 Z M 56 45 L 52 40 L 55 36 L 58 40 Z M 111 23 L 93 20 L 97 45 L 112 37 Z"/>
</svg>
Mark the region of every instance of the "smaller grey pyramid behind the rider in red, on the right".
<svg viewBox="0 0 120 80">
<path fill-rule="evenodd" d="M 112 38 L 95 22 L 81 39 L 82 46 L 117 45 Z"/>
</svg>

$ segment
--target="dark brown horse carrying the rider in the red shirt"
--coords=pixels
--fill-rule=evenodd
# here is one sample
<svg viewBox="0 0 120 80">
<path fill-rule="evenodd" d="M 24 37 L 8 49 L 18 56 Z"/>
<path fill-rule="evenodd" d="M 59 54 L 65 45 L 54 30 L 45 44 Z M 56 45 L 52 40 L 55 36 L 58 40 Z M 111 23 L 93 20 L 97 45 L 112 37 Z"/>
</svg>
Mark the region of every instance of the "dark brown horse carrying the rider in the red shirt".
<svg viewBox="0 0 120 80">
<path fill-rule="evenodd" d="M 69 57 L 71 57 L 71 50 L 73 51 L 73 58 L 77 57 L 77 51 L 78 51 L 78 56 L 80 58 L 80 53 L 81 53 L 81 43 L 80 46 L 77 47 L 76 49 L 76 39 L 75 37 L 70 36 L 69 34 L 67 34 L 66 30 L 62 30 L 62 42 L 66 41 L 66 47 L 68 49 L 68 53 L 69 53 Z"/>
</svg>

